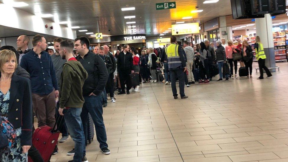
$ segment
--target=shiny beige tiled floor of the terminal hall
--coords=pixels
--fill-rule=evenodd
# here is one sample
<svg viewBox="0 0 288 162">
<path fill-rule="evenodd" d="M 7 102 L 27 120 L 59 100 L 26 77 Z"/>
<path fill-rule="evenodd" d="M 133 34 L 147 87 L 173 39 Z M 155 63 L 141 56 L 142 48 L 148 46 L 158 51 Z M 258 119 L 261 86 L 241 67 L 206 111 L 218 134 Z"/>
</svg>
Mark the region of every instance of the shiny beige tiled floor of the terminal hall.
<svg viewBox="0 0 288 162">
<path fill-rule="evenodd" d="M 157 83 L 118 95 L 103 114 L 111 154 L 100 153 L 94 137 L 86 157 L 89 162 L 287 162 L 288 63 L 277 66 L 281 71 L 264 80 L 253 73 L 253 79 L 185 87 L 189 99 L 174 100 L 171 86 Z M 66 155 L 73 148 L 70 138 L 58 148 L 51 161 L 72 159 Z"/>
</svg>

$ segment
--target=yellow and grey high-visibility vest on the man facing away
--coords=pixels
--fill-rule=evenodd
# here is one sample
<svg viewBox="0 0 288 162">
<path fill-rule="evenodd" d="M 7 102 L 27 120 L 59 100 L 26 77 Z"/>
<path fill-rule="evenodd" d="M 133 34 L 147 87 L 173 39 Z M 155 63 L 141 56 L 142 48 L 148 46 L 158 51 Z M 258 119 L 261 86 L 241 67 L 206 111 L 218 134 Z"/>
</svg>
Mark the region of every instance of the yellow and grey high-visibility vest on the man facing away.
<svg viewBox="0 0 288 162">
<path fill-rule="evenodd" d="M 165 48 L 169 68 L 177 68 L 182 65 L 178 53 L 178 47 L 179 45 L 170 44 L 168 47 Z"/>
</svg>

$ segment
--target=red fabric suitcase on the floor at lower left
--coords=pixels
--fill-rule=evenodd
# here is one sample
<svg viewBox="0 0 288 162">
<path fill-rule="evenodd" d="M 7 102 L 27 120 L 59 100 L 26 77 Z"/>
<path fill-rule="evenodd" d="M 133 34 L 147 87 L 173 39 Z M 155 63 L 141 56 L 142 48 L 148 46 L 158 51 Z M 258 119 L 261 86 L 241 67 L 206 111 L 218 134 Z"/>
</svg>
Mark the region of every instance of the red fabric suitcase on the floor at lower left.
<svg viewBox="0 0 288 162">
<path fill-rule="evenodd" d="M 60 118 L 62 120 L 63 116 L 61 116 Z M 58 119 L 56 120 L 56 123 L 57 122 Z M 37 148 L 45 162 L 50 161 L 53 150 L 59 138 L 60 131 L 58 131 L 57 129 L 55 130 L 55 125 L 54 128 L 51 128 L 47 125 L 39 127 L 35 130 L 32 136 L 32 144 L 35 146 L 35 148 Z M 32 159 L 29 157 L 28 161 L 32 162 Z"/>
</svg>

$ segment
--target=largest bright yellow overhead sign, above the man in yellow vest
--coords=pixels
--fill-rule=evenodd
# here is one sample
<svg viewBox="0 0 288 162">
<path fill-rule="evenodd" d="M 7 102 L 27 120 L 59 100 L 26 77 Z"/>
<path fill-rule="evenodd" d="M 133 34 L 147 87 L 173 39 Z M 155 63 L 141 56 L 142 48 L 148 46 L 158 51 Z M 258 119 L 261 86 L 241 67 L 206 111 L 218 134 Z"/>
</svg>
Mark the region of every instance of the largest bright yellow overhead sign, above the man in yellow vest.
<svg viewBox="0 0 288 162">
<path fill-rule="evenodd" d="M 199 33 L 199 23 L 175 24 L 172 25 L 172 35 Z"/>
</svg>

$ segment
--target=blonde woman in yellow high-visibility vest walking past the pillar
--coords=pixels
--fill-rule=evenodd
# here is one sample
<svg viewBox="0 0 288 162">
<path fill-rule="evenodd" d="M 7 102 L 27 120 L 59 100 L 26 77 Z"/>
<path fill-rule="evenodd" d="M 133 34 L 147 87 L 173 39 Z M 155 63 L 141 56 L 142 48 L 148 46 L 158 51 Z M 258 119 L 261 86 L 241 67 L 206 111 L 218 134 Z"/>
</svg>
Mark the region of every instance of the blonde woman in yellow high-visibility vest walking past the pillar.
<svg viewBox="0 0 288 162">
<path fill-rule="evenodd" d="M 269 69 L 265 66 L 265 59 L 266 55 L 264 52 L 263 44 L 260 41 L 260 37 L 256 36 L 256 43 L 254 45 L 256 51 L 256 59 L 258 60 L 259 70 L 260 70 L 260 77 L 258 79 L 263 79 L 263 69 L 266 71 L 267 77 L 272 76 Z"/>
</svg>

